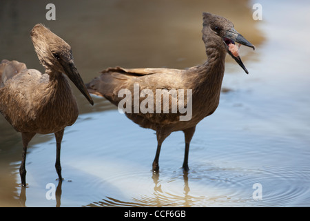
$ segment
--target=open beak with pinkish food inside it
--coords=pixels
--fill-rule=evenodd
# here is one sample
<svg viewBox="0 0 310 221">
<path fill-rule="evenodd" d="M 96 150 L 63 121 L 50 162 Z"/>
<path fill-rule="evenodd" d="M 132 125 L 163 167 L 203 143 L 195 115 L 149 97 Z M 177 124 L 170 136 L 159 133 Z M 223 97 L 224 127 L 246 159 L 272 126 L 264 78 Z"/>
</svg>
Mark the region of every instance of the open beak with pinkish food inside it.
<svg viewBox="0 0 310 221">
<path fill-rule="evenodd" d="M 247 41 L 247 39 L 240 35 L 234 28 L 227 30 L 225 37 L 223 37 L 223 42 L 225 43 L 228 54 L 241 66 L 241 68 L 243 68 L 243 70 L 245 70 L 245 73 L 249 74 L 247 68 L 245 68 L 245 65 L 242 63 L 238 52 L 234 52 L 231 48 L 238 47 L 235 46 L 235 42 L 253 48 L 253 50 L 255 50 L 255 46 Z M 233 46 L 230 46 L 231 44 L 233 44 Z"/>
</svg>

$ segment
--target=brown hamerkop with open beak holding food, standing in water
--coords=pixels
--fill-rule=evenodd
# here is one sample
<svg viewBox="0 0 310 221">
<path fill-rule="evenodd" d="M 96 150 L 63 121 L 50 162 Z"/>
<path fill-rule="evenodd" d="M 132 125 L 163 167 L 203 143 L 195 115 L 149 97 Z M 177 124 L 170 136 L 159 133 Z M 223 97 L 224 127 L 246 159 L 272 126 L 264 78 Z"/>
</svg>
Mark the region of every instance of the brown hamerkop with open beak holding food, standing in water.
<svg viewBox="0 0 310 221">
<path fill-rule="evenodd" d="M 133 113 L 132 111 L 131 113 L 126 113 L 127 117 L 136 124 L 156 131 L 158 145 L 152 165 L 154 172 L 157 172 L 159 169 L 158 158 L 161 144 L 174 131 L 183 131 L 185 133 L 183 169 L 185 171 L 189 169 L 189 142 L 191 142 L 194 135 L 196 124 L 214 113 L 218 107 L 227 52 L 248 73 L 236 51 L 238 46 L 235 45 L 235 42 L 253 49 L 255 48 L 253 44 L 249 43 L 247 39 L 234 29 L 234 24 L 231 21 L 218 15 L 203 13 L 202 32 L 207 53 L 207 61 L 203 65 L 194 66 L 186 70 L 169 68 L 107 68 L 107 70 L 102 71 L 99 77 L 86 84 L 90 93 L 103 96 L 115 105 L 118 105 L 123 99 L 122 96 L 119 97 L 118 95 L 121 89 L 130 90 L 133 96 L 134 84 L 139 86 L 139 92 L 147 89 L 152 90 L 154 94 L 156 94 L 156 89 L 168 91 L 173 89 L 192 89 L 192 118 L 187 121 L 180 121 L 180 116 L 182 115 L 180 111 L 172 113 L 171 99 L 169 99 L 169 113 Z M 134 96 L 132 100 L 134 100 Z M 140 97 L 139 104 L 141 104 L 142 100 Z M 161 102 L 163 99 L 158 99 L 158 101 Z M 134 102 L 131 102 L 131 104 L 132 109 L 134 109 Z M 154 97 L 155 105 L 156 98 Z M 163 104 L 160 103 L 160 105 Z"/>
</svg>

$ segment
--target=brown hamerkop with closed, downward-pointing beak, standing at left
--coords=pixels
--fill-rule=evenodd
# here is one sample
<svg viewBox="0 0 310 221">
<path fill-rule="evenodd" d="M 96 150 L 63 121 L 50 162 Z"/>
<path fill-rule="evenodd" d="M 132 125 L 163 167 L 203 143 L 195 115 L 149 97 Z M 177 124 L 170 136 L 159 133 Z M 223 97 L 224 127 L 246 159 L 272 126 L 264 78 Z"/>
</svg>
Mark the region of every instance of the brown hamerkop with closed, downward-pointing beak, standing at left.
<svg viewBox="0 0 310 221">
<path fill-rule="evenodd" d="M 69 81 L 94 104 L 76 69 L 70 46 L 41 24 L 31 30 L 32 43 L 45 74 L 27 69 L 18 61 L 0 64 L 0 112 L 23 139 L 23 157 L 19 173 L 25 183 L 27 146 L 36 133 L 54 133 L 56 137 L 56 172 L 61 177 L 61 140 L 66 126 L 76 121 L 79 110 Z M 64 75 L 65 74 L 65 75 Z"/>
</svg>

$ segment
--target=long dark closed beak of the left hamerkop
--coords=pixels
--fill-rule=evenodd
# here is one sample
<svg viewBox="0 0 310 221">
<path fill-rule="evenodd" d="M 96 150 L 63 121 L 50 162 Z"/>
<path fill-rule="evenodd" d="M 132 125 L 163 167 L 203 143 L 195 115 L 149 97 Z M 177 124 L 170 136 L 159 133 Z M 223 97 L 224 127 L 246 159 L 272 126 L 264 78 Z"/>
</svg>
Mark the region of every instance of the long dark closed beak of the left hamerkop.
<svg viewBox="0 0 310 221">
<path fill-rule="evenodd" d="M 63 66 L 63 69 L 65 70 L 66 75 L 69 77 L 69 79 L 73 82 L 73 84 L 78 88 L 81 93 L 86 97 L 88 102 L 90 104 L 94 105 L 94 101 L 92 100 L 92 97 L 90 97 L 90 94 L 88 93 L 86 86 L 83 82 L 83 79 L 81 78 L 78 70 L 76 69 L 73 62 L 61 64 Z"/>
</svg>

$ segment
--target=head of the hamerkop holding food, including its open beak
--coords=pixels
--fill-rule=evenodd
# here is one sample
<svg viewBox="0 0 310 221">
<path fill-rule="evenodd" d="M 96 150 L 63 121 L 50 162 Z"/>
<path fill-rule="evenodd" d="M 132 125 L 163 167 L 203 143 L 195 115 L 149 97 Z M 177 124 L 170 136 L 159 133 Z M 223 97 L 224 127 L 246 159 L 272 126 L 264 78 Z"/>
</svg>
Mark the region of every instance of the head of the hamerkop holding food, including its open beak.
<svg viewBox="0 0 310 221">
<path fill-rule="evenodd" d="M 245 73 L 249 73 L 238 55 L 238 46 L 235 43 L 253 48 L 254 50 L 255 47 L 236 31 L 231 21 L 224 17 L 204 12 L 202 32 L 206 47 L 214 44 L 213 46 L 216 46 L 218 50 L 227 52 L 245 70 Z"/>
</svg>

